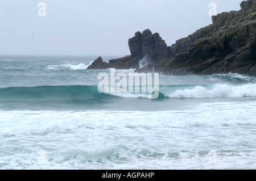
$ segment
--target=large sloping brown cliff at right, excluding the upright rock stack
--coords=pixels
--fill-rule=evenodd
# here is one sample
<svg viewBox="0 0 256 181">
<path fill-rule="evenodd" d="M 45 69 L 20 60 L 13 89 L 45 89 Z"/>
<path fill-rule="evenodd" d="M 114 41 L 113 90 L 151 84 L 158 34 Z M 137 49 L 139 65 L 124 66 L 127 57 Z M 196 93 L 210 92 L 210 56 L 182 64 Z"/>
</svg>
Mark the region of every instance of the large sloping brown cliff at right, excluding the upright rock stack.
<svg viewBox="0 0 256 181">
<path fill-rule="evenodd" d="M 243 1 L 240 11 L 222 12 L 213 24 L 168 47 L 171 59 L 138 72 L 163 74 L 240 73 L 256 75 L 256 0 Z"/>
</svg>

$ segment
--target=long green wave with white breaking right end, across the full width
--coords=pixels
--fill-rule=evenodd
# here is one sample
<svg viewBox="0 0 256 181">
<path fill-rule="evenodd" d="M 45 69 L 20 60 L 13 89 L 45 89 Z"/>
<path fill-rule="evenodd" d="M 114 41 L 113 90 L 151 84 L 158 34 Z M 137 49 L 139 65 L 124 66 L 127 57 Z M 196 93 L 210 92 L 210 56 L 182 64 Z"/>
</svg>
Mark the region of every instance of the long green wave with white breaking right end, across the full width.
<svg viewBox="0 0 256 181">
<path fill-rule="evenodd" d="M 227 85 L 217 84 L 213 86 L 198 85 L 172 85 L 159 86 L 160 94 L 164 98 L 229 98 L 256 96 L 256 84 Z M 118 98 L 145 98 L 146 93 L 100 93 L 95 85 L 74 86 L 36 86 L 36 87 L 7 87 L 0 89 L 0 100 L 84 100 L 100 102 L 104 99 Z"/>
</svg>

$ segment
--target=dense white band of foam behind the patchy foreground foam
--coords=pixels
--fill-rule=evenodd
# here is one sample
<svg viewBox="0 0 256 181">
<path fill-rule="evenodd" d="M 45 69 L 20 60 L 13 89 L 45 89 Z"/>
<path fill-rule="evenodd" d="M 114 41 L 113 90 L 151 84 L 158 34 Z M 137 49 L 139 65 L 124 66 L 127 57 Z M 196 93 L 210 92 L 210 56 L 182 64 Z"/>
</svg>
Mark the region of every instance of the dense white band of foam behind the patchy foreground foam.
<svg viewBox="0 0 256 181">
<path fill-rule="evenodd" d="M 90 128 L 170 128 L 256 124 L 256 103 L 204 103 L 170 111 L 0 111 L 0 135 Z"/>
</svg>

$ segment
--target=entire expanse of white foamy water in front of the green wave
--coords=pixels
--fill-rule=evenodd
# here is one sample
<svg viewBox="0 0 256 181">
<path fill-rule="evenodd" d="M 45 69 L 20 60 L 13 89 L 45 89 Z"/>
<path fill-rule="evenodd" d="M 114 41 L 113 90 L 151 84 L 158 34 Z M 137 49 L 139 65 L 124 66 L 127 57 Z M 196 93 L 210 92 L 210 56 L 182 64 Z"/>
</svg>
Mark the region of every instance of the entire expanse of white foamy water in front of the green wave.
<svg viewBox="0 0 256 181">
<path fill-rule="evenodd" d="M 253 169 L 255 106 L 217 102 L 155 112 L 0 110 L 0 168 Z M 214 165 L 208 162 L 212 149 L 217 151 Z M 39 150 L 45 151 L 46 163 L 38 162 Z"/>
</svg>

